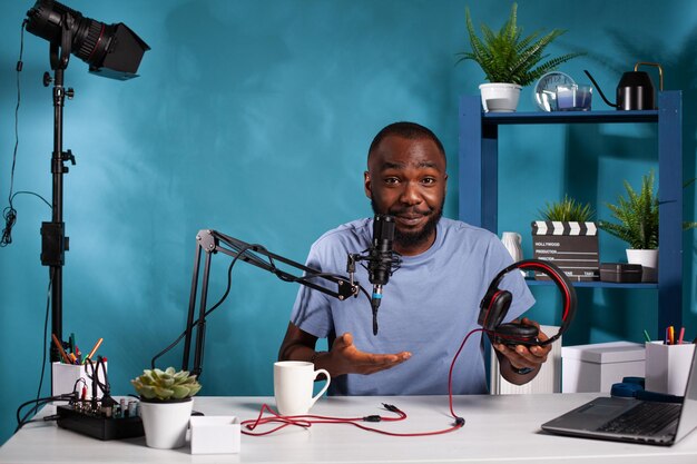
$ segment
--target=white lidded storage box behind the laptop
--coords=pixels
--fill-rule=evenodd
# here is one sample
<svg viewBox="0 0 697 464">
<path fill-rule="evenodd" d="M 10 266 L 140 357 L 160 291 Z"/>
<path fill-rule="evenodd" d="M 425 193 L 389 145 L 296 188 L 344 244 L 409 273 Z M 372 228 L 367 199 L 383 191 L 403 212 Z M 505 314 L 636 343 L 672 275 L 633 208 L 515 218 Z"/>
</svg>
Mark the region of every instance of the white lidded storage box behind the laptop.
<svg viewBox="0 0 697 464">
<path fill-rule="evenodd" d="M 610 392 L 624 377 L 644 377 L 645 348 L 610 342 L 561 348 L 561 392 Z"/>
</svg>

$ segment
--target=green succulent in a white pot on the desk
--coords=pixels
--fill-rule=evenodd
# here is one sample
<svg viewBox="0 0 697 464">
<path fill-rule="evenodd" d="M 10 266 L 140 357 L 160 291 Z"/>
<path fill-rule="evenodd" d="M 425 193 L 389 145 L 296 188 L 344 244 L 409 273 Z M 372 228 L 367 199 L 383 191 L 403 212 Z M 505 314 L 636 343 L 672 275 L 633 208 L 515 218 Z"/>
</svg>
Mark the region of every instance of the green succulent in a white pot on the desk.
<svg viewBox="0 0 697 464">
<path fill-rule="evenodd" d="M 130 381 L 140 395 L 145 442 L 154 448 L 178 448 L 186 444 L 186 430 L 200 389 L 195 375 L 174 367 L 145 369 Z"/>
</svg>

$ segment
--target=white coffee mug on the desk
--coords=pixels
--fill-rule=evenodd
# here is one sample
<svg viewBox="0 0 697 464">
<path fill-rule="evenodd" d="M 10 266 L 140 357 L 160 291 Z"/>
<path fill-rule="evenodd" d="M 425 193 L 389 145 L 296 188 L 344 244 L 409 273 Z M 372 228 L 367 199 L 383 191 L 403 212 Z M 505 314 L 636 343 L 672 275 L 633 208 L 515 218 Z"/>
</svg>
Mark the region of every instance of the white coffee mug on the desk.
<svg viewBox="0 0 697 464">
<path fill-rule="evenodd" d="M 326 384 L 312 396 L 315 378 L 324 374 Z M 315 402 L 330 387 L 330 373 L 315 371 L 315 365 L 304 361 L 279 361 L 274 363 L 274 395 L 276 408 L 284 416 L 307 414 Z"/>
</svg>

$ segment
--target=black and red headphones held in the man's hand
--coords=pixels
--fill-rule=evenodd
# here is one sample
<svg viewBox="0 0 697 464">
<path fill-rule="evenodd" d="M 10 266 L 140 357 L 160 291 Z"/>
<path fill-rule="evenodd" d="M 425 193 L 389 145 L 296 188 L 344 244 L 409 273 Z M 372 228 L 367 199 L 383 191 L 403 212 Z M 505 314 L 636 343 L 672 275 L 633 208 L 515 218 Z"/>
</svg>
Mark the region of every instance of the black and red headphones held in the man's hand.
<svg viewBox="0 0 697 464">
<path fill-rule="evenodd" d="M 550 337 L 547 340 L 539 340 L 539 330 L 531 325 L 523 325 L 520 323 L 507 323 L 502 324 L 505 314 L 508 313 L 513 295 L 508 290 L 499 288 L 499 284 L 503 276 L 511 270 L 534 270 L 542 273 L 550 277 L 557 285 L 563 297 L 563 313 L 561 315 L 561 326 L 557 335 Z M 573 316 L 576 314 L 576 290 L 573 285 L 569 282 L 569 278 L 563 272 L 557 267 L 557 265 L 544 261 L 541 259 L 523 259 L 518 263 L 513 263 L 505 269 L 501 270 L 489 285 L 489 289 L 482 298 L 480 304 L 479 318 L 477 323 L 484 328 L 484 332 L 489 334 L 493 343 L 504 343 L 507 345 L 526 345 L 526 346 L 543 346 L 549 345 L 563 334 Z"/>
</svg>

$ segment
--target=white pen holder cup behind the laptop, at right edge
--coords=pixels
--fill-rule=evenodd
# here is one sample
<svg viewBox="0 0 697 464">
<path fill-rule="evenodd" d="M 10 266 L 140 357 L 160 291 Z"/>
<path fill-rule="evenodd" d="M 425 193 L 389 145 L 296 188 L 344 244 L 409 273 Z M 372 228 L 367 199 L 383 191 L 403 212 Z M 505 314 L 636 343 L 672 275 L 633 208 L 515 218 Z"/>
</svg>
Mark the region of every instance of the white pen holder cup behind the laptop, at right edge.
<svg viewBox="0 0 697 464">
<path fill-rule="evenodd" d="M 695 345 L 664 345 L 662 342 L 646 343 L 646 389 L 684 396 L 690 371 Z"/>
</svg>

